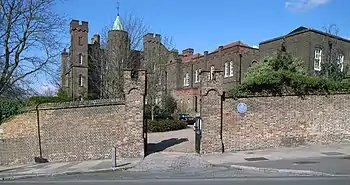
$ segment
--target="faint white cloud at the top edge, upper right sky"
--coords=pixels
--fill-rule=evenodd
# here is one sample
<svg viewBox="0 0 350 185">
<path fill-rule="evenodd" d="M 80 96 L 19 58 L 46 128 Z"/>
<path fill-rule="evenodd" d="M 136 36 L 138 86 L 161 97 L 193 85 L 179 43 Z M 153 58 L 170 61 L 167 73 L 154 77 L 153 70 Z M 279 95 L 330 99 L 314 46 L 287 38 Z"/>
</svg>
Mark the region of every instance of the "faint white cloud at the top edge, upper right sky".
<svg viewBox="0 0 350 185">
<path fill-rule="evenodd" d="M 329 3 L 331 0 L 285 0 L 285 7 L 292 11 L 308 11 L 320 5 Z"/>
</svg>

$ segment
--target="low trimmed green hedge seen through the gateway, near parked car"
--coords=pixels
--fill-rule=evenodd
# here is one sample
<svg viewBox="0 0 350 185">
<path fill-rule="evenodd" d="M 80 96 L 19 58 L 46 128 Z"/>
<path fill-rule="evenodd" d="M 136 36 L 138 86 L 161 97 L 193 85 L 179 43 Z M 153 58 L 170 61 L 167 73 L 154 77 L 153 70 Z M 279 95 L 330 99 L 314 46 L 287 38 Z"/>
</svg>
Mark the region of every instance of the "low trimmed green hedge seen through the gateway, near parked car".
<svg viewBox="0 0 350 185">
<path fill-rule="evenodd" d="M 187 128 L 187 123 L 182 120 L 160 119 L 147 120 L 148 132 L 167 132 Z"/>
</svg>

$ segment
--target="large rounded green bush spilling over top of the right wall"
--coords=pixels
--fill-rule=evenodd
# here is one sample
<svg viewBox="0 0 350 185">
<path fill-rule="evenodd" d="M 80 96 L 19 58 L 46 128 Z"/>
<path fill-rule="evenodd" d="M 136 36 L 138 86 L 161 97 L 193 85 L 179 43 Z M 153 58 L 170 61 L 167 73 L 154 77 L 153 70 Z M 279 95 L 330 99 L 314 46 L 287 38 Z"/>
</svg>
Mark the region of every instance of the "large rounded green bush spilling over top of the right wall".
<svg viewBox="0 0 350 185">
<path fill-rule="evenodd" d="M 307 95 L 350 92 L 349 80 L 309 75 L 304 62 L 286 52 L 266 57 L 248 69 L 243 83 L 231 90 L 234 98 L 249 95 Z"/>
</svg>

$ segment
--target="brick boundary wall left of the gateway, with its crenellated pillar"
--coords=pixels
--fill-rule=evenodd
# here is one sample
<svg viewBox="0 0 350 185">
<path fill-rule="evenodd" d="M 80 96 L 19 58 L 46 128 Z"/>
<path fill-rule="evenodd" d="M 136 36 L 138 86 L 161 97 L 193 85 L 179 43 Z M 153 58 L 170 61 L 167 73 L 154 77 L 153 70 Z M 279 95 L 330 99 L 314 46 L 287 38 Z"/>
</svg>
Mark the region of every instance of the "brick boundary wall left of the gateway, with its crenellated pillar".
<svg viewBox="0 0 350 185">
<path fill-rule="evenodd" d="M 39 146 L 50 162 L 107 159 L 112 147 L 118 157 L 143 157 L 146 72 L 131 73 L 124 72 L 125 99 L 42 104 L 2 124 L 0 165 L 34 162 Z"/>
</svg>

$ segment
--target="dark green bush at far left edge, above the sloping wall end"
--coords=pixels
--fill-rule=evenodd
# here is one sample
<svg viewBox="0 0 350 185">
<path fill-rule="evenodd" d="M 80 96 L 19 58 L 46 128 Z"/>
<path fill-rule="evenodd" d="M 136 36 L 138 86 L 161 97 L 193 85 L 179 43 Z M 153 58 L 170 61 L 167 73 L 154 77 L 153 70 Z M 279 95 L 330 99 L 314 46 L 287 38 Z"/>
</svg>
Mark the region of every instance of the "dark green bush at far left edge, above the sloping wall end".
<svg viewBox="0 0 350 185">
<path fill-rule="evenodd" d="M 0 101 L 0 124 L 12 116 L 24 111 L 24 103 L 18 101 Z"/>
</svg>

